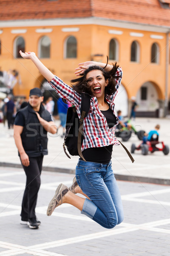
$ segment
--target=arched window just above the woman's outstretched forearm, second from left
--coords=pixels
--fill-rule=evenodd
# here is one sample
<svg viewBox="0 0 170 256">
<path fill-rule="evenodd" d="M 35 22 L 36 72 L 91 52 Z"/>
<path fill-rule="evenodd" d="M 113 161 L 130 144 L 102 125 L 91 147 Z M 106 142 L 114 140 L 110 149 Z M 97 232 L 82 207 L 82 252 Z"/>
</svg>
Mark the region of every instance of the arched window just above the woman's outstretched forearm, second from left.
<svg viewBox="0 0 170 256">
<path fill-rule="evenodd" d="M 38 56 L 39 58 L 50 58 L 51 40 L 48 36 L 43 36 L 39 41 Z"/>
</svg>

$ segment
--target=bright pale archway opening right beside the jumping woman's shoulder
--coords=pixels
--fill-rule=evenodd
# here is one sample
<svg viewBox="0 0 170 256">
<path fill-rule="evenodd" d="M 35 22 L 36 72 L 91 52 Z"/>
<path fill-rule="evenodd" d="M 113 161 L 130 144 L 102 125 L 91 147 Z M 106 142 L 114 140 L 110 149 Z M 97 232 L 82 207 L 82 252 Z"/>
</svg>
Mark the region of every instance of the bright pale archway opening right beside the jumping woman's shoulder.
<svg viewBox="0 0 170 256">
<path fill-rule="evenodd" d="M 118 93 L 114 99 L 115 112 L 122 111 L 122 116 L 128 115 L 128 95 L 125 87 L 121 84 Z"/>
</svg>

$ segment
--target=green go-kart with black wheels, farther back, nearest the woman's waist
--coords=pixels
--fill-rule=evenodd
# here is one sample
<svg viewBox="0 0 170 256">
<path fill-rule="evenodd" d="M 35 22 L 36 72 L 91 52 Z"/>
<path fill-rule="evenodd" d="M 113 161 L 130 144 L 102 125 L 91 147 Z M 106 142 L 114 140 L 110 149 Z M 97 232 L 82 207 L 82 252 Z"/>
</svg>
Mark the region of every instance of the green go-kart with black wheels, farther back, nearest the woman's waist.
<svg viewBox="0 0 170 256">
<path fill-rule="evenodd" d="M 139 140 L 142 140 L 142 137 L 144 136 L 145 131 L 140 130 L 136 131 L 135 127 L 130 124 L 130 120 L 125 122 L 127 124 L 126 127 L 123 127 L 121 124 L 118 125 L 118 128 L 116 128 L 115 136 L 121 137 L 123 141 L 127 141 L 130 139 L 132 133 L 136 134 Z"/>
</svg>

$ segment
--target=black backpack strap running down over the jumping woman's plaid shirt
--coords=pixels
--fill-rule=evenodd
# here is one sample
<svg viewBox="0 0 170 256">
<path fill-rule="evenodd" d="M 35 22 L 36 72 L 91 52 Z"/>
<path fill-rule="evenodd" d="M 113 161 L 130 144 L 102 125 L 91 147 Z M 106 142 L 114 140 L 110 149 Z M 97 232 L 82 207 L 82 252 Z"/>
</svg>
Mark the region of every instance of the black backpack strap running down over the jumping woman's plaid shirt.
<svg viewBox="0 0 170 256">
<path fill-rule="evenodd" d="M 89 109 L 90 109 L 90 95 L 86 93 L 82 93 L 82 100 L 81 100 L 81 108 L 80 108 L 80 114 L 81 117 L 79 119 L 79 133 L 78 133 L 78 142 L 77 142 L 77 149 L 79 156 L 82 157 L 82 159 L 86 162 L 85 158 L 82 155 L 82 135 L 83 135 L 83 122 L 85 117 L 88 115 Z"/>
</svg>

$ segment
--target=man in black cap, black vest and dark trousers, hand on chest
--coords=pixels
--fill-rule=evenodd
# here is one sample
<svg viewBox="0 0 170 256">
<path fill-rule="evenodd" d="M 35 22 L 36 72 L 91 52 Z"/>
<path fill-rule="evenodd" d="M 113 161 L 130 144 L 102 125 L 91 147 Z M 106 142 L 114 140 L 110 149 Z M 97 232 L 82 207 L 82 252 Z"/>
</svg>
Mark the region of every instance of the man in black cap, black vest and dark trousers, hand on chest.
<svg viewBox="0 0 170 256">
<path fill-rule="evenodd" d="M 18 111 L 14 121 L 14 140 L 26 173 L 26 189 L 23 195 L 21 224 L 37 229 L 35 207 L 40 189 L 43 156 L 48 154 L 47 132 L 55 134 L 57 127 L 51 114 L 42 105 L 43 96 L 39 88 L 30 90 L 28 106 Z"/>
</svg>

